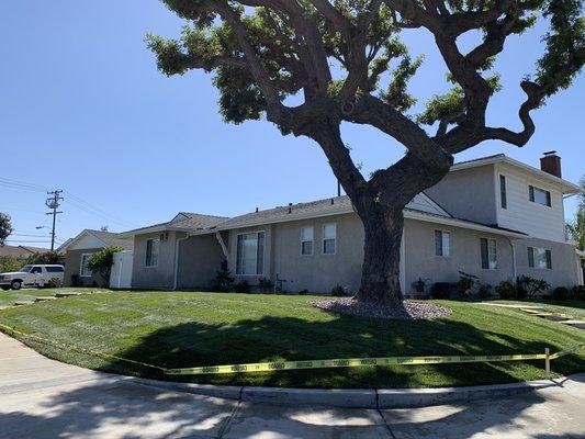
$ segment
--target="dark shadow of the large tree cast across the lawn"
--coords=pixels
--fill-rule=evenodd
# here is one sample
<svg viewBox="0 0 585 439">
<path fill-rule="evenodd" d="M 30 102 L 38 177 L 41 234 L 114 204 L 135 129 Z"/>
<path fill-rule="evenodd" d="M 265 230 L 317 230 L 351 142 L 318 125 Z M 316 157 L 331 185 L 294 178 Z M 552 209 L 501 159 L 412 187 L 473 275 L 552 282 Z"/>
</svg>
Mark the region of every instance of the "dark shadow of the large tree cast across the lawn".
<svg viewBox="0 0 585 439">
<path fill-rule="evenodd" d="M 530 330 L 527 328 L 527 330 Z M 430 340 L 430 341 L 429 341 Z M 379 320 L 337 316 L 327 322 L 263 316 L 235 325 L 191 322 L 158 329 L 116 356 L 164 368 L 190 368 L 282 360 L 362 357 L 543 353 L 565 347 L 521 340 L 457 320 Z M 112 361 L 108 371 L 169 379 Z M 173 376 L 172 381 L 292 387 L 421 387 L 495 384 L 541 379 L 544 361 L 313 369 Z M 555 360 L 555 372 L 585 370 L 577 356 Z"/>
</svg>

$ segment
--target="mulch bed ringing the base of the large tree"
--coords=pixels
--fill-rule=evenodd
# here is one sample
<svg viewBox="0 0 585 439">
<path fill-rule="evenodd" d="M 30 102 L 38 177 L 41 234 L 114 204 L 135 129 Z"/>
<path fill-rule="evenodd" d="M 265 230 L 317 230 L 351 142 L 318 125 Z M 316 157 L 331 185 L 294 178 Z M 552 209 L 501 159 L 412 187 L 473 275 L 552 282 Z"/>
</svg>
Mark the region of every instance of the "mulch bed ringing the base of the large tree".
<svg viewBox="0 0 585 439">
<path fill-rule="evenodd" d="M 401 320 L 439 318 L 451 314 L 451 309 L 446 306 L 414 301 L 404 301 L 403 308 L 372 305 L 352 297 L 319 299 L 311 301 L 311 304 L 330 313 Z"/>
</svg>

